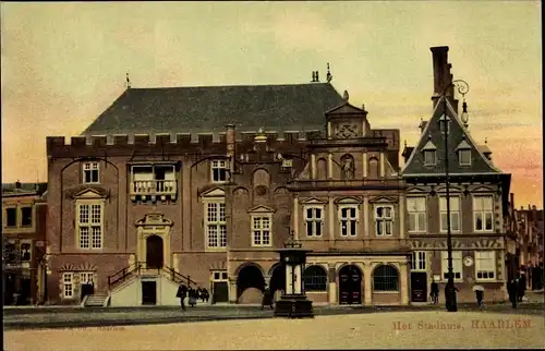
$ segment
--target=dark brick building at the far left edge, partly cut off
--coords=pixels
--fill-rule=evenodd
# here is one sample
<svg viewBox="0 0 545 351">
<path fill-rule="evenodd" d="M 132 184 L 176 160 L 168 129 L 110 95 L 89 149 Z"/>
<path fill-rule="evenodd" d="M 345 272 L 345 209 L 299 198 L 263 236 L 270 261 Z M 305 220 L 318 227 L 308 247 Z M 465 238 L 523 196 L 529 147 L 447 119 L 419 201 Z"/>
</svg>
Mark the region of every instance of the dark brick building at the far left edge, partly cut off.
<svg viewBox="0 0 545 351">
<path fill-rule="evenodd" d="M 45 300 L 46 183 L 2 184 L 2 295 L 5 305 Z"/>
</svg>

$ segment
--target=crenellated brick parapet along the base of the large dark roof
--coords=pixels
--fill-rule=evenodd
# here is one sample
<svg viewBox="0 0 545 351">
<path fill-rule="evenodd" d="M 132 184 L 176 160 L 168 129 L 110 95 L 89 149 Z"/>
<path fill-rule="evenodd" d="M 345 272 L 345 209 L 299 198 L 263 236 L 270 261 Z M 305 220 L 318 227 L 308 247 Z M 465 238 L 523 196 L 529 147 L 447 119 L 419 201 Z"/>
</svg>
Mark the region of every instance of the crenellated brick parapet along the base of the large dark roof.
<svg viewBox="0 0 545 351">
<path fill-rule="evenodd" d="M 245 149 L 264 135 L 269 148 L 287 149 L 305 147 L 307 141 L 323 137 L 322 131 L 242 131 L 235 134 L 235 147 Z M 52 157 L 93 157 L 107 153 L 110 156 L 130 155 L 135 150 L 160 153 L 225 153 L 227 133 L 157 133 L 114 134 L 87 136 L 48 136 L 47 153 Z"/>
</svg>

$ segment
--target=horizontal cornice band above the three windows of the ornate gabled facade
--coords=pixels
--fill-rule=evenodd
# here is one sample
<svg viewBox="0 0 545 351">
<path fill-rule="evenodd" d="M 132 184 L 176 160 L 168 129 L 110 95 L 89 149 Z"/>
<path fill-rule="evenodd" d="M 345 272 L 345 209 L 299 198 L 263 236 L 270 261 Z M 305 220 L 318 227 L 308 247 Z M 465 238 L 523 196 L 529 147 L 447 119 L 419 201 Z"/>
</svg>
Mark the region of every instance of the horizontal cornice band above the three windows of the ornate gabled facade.
<svg viewBox="0 0 545 351">
<path fill-rule="evenodd" d="M 343 187 L 404 187 L 402 179 L 353 179 L 353 180 L 296 180 L 289 185 L 296 190 L 343 189 Z"/>
</svg>

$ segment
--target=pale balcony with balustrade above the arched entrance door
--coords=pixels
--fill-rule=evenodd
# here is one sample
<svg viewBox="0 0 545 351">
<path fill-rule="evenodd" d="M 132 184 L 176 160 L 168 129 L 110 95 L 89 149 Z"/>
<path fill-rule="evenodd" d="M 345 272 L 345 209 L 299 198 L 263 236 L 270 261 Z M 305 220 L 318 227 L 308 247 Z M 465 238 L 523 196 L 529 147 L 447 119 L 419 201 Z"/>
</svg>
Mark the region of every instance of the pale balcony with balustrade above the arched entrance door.
<svg viewBox="0 0 545 351">
<path fill-rule="evenodd" d="M 173 166 L 133 166 L 130 195 L 132 201 L 175 199 L 178 183 Z"/>
</svg>

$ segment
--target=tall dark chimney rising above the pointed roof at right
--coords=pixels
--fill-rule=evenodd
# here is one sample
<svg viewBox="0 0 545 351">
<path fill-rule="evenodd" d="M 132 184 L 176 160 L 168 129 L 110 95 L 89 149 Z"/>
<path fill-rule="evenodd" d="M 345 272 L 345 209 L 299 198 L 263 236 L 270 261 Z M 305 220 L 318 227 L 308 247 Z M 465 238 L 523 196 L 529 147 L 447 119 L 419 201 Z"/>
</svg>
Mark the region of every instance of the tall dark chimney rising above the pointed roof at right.
<svg viewBox="0 0 545 351">
<path fill-rule="evenodd" d="M 448 63 L 448 46 L 433 47 L 431 50 L 434 61 L 434 95 L 432 96 L 434 108 L 439 101 L 443 90 L 448 86 L 446 95 L 450 97 L 450 102 L 458 112 L 458 101 L 453 100 L 455 88 L 452 74 L 450 74 L 452 65 Z"/>
</svg>

